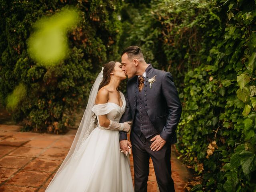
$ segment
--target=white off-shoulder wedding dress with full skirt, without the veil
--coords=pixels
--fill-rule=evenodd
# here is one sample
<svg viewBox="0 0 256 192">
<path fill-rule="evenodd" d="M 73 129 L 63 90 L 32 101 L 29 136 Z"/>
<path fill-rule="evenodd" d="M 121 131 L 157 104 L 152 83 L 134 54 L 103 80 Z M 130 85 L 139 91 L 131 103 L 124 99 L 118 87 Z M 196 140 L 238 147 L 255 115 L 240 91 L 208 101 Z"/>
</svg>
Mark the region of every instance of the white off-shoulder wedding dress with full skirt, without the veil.
<svg viewBox="0 0 256 192">
<path fill-rule="evenodd" d="M 107 114 L 119 122 L 126 102 L 120 92 L 122 107 L 115 103 L 94 105 L 92 111 Z M 47 192 L 134 192 L 129 156 L 120 152 L 119 132 L 96 127 L 84 140 L 74 158 L 50 183 Z"/>
</svg>

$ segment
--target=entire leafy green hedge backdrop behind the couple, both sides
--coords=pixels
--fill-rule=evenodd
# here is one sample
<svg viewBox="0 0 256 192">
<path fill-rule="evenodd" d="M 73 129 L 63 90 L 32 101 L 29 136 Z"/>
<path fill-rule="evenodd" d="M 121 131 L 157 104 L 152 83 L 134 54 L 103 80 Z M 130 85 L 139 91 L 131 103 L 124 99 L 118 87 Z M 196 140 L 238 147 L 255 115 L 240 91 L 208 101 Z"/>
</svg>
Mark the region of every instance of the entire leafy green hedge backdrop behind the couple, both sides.
<svg viewBox="0 0 256 192">
<path fill-rule="evenodd" d="M 65 132 L 84 108 L 104 62 L 136 44 L 172 73 L 183 105 L 176 145 L 198 177 L 192 191 L 256 191 L 256 1 L 0 1 L 0 101 L 22 82 L 12 110 L 26 130 Z M 82 10 L 72 54 L 54 68 L 27 54 L 33 23 L 60 8 Z"/>
</svg>

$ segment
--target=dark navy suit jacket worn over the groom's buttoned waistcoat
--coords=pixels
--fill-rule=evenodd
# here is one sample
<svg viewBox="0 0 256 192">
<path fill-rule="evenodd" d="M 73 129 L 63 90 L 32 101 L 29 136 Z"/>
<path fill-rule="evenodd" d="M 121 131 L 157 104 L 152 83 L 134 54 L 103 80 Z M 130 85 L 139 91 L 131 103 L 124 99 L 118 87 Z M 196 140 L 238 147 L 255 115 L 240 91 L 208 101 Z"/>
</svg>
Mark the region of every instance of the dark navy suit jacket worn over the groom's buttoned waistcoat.
<svg viewBox="0 0 256 192">
<path fill-rule="evenodd" d="M 156 81 L 152 83 L 150 88 L 148 80 L 155 75 Z M 120 122 L 134 120 L 136 110 L 136 93 L 134 90 L 136 90 L 136 86 L 138 86 L 138 76 L 130 78 L 127 82 L 126 110 Z M 182 106 L 172 75 L 170 72 L 154 69 L 150 64 L 146 68 L 146 78 L 142 91 L 146 112 L 154 125 L 154 129 L 158 130 L 160 136 L 170 144 L 176 143 L 176 128 L 180 121 Z M 120 140 L 124 139 L 127 139 L 127 133 L 120 131 Z"/>
</svg>

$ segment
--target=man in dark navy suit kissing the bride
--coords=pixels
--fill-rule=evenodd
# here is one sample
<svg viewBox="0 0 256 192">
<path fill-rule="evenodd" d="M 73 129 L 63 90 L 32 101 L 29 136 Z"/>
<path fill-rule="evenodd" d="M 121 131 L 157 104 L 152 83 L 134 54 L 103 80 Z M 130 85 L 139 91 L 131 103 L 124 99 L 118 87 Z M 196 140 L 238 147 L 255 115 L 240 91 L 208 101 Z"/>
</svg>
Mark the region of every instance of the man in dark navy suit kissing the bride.
<svg viewBox="0 0 256 192">
<path fill-rule="evenodd" d="M 152 158 L 160 192 L 174 192 L 171 177 L 171 144 L 177 142 L 175 130 L 182 107 L 169 72 L 147 64 L 138 46 L 122 52 L 122 69 L 128 76 L 126 111 L 120 122 L 132 120 L 130 140 L 120 132 L 124 153 L 132 146 L 135 192 L 146 192 L 149 158 Z"/>
</svg>

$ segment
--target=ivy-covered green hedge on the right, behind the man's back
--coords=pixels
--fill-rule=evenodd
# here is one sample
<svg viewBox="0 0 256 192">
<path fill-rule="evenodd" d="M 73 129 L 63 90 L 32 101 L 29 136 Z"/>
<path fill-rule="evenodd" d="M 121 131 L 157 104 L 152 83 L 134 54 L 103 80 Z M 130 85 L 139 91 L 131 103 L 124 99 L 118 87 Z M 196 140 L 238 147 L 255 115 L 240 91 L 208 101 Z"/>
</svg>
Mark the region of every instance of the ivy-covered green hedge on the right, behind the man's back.
<svg viewBox="0 0 256 192">
<path fill-rule="evenodd" d="M 138 44 L 174 76 L 183 103 L 178 150 L 202 176 L 192 190 L 255 191 L 256 2 L 148 6 L 136 15 L 124 11 L 126 24 L 134 23 L 126 44 Z"/>
</svg>

